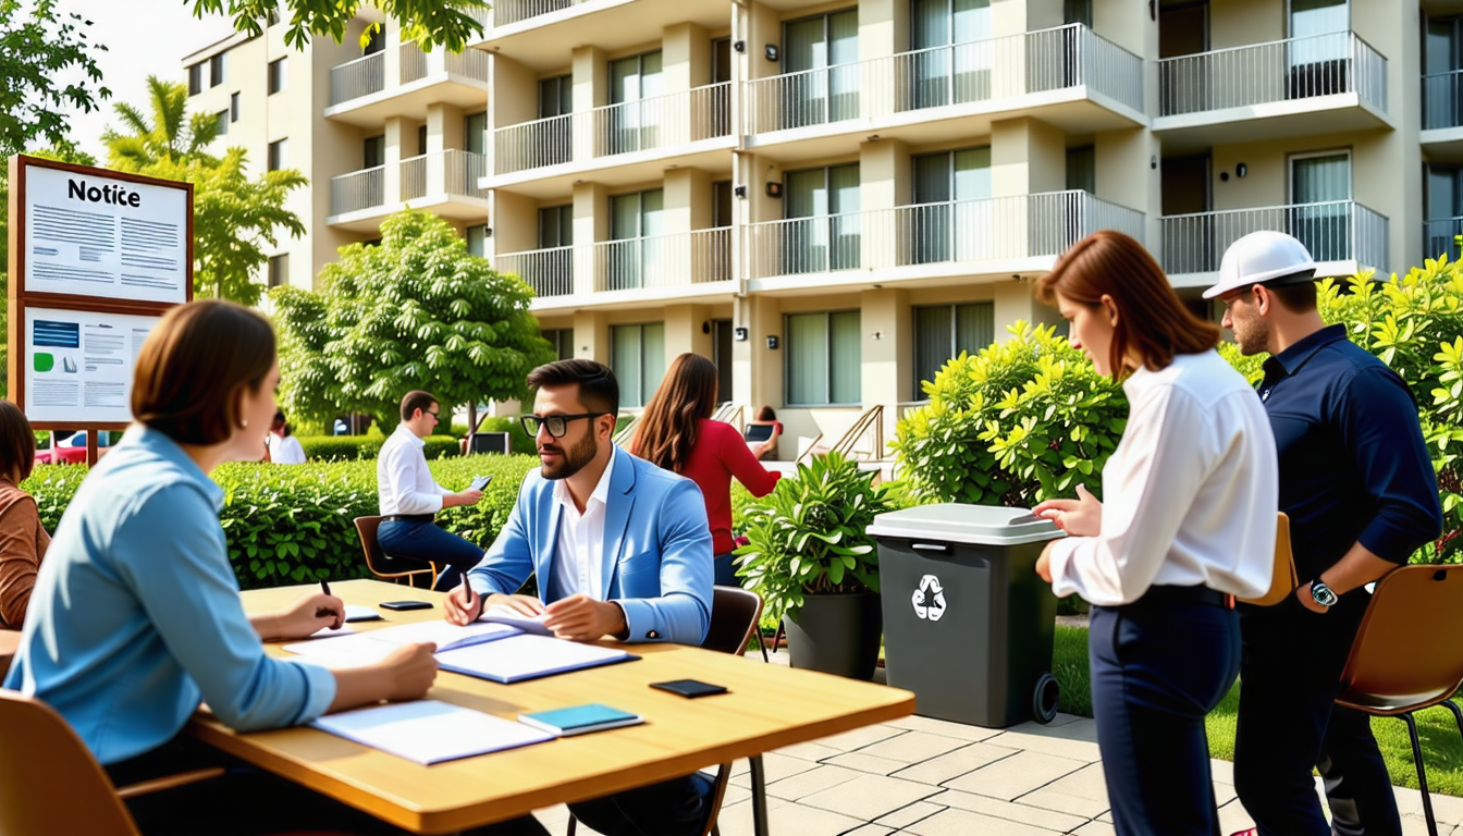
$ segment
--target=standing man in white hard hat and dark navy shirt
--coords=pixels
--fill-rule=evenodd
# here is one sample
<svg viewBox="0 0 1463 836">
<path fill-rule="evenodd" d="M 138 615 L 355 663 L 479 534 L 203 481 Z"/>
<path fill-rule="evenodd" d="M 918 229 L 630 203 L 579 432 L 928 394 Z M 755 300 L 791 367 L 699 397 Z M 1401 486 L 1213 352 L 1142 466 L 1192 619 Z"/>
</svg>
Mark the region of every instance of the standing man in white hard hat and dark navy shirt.
<svg viewBox="0 0 1463 836">
<path fill-rule="evenodd" d="M 1223 302 L 1242 353 L 1270 354 L 1260 397 L 1301 580 L 1276 606 L 1241 608 L 1235 789 L 1261 836 L 1328 835 L 1314 766 L 1336 833 L 1400 835 L 1369 717 L 1334 700 L 1365 584 L 1437 539 L 1443 510 L 1406 384 L 1344 326 L 1325 326 L 1314 274 L 1301 242 L 1252 233 L 1229 247 L 1204 293 Z"/>
</svg>

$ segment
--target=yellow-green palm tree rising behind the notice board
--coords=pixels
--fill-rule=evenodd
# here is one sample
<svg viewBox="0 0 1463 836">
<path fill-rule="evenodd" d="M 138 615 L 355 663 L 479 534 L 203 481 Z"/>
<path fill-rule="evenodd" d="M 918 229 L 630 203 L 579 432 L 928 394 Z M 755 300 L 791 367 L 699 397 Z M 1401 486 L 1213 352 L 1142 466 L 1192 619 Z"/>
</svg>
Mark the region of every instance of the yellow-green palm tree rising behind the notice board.
<svg viewBox="0 0 1463 836">
<path fill-rule="evenodd" d="M 187 86 L 148 76 L 148 111 L 117 104 L 123 132 L 102 133 L 107 164 L 164 180 L 193 183 L 193 288 L 255 305 L 263 285 L 253 280 L 269 261 L 279 234 L 304 234 L 300 217 L 285 208 L 291 189 L 307 184 L 294 168 L 250 179 L 243 148 L 222 157 L 205 148 L 218 133 L 218 117 L 187 116 Z"/>
</svg>

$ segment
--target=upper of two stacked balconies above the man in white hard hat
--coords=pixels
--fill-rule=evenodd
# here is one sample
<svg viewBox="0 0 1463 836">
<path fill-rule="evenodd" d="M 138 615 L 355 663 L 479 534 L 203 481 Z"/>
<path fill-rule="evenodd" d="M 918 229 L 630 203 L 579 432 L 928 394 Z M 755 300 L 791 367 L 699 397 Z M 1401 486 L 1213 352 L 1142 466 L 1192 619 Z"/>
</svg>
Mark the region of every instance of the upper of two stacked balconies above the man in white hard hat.
<svg viewBox="0 0 1463 836">
<path fill-rule="evenodd" d="M 1159 61 L 1165 142 L 1208 145 L 1390 126 L 1387 59 L 1355 32 Z"/>
</svg>

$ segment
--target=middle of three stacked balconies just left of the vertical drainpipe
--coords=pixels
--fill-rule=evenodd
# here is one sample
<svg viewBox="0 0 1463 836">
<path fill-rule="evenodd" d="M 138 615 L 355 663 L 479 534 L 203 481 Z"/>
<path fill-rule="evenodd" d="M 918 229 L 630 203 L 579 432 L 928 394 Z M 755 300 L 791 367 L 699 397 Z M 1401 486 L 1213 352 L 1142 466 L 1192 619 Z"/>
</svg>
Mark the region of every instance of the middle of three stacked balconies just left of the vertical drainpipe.
<svg viewBox="0 0 1463 836">
<path fill-rule="evenodd" d="M 494 132 L 494 184 L 549 179 L 546 193 L 562 189 L 590 168 L 625 168 L 617 176 L 595 173 L 607 184 L 658 177 L 660 161 L 696 165 L 698 154 L 718 167 L 732 148 L 732 85 L 721 82 L 689 91 L 610 104 L 553 116 Z"/>
</svg>

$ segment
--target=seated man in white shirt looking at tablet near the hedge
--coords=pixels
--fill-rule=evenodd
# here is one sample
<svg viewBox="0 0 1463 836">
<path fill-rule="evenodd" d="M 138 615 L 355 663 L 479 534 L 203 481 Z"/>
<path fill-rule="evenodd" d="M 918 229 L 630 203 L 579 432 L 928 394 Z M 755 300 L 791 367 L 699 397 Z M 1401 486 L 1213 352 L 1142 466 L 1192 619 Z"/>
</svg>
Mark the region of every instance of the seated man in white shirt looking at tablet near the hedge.
<svg viewBox="0 0 1463 836">
<path fill-rule="evenodd" d="M 401 425 L 380 445 L 376 458 L 382 517 L 376 540 L 388 558 L 446 564 L 435 589 L 448 590 L 483 559 L 483 548 L 443 531 L 433 517 L 443 508 L 477 505 L 483 492 L 468 488 L 454 493 L 432 479 L 421 439 L 437 426 L 440 408 L 432 392 L 421 389 L 401 398 Z"/>
</svg>

